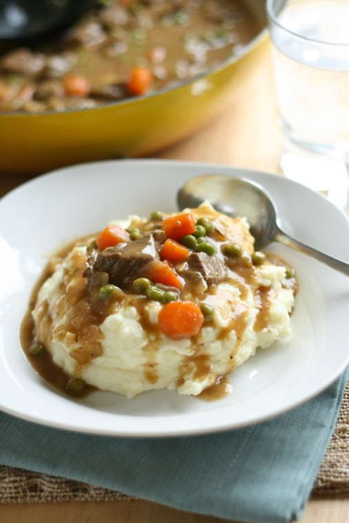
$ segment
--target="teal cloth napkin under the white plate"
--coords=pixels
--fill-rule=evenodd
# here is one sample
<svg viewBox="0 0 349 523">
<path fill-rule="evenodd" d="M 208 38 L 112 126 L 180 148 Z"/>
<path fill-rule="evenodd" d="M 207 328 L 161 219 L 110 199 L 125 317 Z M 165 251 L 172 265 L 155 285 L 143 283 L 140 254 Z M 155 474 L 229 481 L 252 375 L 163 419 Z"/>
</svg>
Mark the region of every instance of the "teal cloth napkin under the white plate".
<svg viewBox="0 0 349 523">
<path fill-rule="evenodd" d="M 302 515 L 335 428 L 349 370 L 319 396 L 243 429 L 178 438 L 114 438 L 0 413 L 0 463 L 248 523 Z"/>
</svg>

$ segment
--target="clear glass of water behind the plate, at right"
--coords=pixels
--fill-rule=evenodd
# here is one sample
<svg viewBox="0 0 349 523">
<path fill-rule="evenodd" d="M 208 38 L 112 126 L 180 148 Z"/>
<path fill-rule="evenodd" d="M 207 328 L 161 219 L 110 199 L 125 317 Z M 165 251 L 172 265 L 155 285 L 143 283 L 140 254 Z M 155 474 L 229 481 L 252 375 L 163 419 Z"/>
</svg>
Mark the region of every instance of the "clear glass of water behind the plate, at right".
<svg viewBox="0 0 349 523">
<path fill-rule="evenodd" d="M 348 204 L 349 0 L 267 0 L 288 178 Z"/>
</svg>

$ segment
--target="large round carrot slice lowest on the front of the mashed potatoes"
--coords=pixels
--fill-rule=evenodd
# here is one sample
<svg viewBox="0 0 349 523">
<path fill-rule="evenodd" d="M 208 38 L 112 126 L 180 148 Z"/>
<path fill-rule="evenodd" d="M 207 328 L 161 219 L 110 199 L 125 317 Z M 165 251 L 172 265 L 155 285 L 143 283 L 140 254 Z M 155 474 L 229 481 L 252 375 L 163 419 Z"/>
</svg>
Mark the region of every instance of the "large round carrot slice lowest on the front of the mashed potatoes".
<svg viewBox="0 0 349 523">
<path fill-rule="evenodd" d="M 204 314 L 192 301 L 170 301 L 158 314 L 160 330 L 172 339 L 195 336 L 203 323 Z"/>
</svg>

